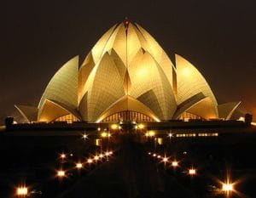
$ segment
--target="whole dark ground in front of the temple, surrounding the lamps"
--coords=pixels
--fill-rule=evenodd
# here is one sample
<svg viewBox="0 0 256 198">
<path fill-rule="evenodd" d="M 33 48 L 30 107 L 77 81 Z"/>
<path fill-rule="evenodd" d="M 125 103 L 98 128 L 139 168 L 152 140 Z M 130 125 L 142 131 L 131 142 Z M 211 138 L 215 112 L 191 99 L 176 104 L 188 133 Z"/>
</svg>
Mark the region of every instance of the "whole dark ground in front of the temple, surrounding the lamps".
<svg viewBox="0 0 256 198">
<path fill-rule="evenodd" d="M 122 134 L 105 139 L 102 147 L 94 145 L 97 137 L 0 137 L 0 197 L 15 196 L 15 187 L 26 184 L 29 197 L 226 197 L 219 181 L 227 170 L 236 181 L 230 197 L 256 197 L 256 136 L 165 139 L 165 144 L 142 141 L 137 134 Z M 88 158 L 113 150 L 113 156 L 93 164 Z M 67 159 L 61 160 L 64 152 Z M 150 152 L 150 155 L 148 155 Z M 167 156 L 166 165 L 153 154 Z M 162 159 L 162 158 L 161 158 Z M 170 161 L 177 159 L 173 169 Z M 75 162 L 84 161 L 78 171 Z M 189 167 L 197 174 L 188 175 Z M 55 177 L 57 169 L 67 171 L 67 178 Z"/>
</svg>

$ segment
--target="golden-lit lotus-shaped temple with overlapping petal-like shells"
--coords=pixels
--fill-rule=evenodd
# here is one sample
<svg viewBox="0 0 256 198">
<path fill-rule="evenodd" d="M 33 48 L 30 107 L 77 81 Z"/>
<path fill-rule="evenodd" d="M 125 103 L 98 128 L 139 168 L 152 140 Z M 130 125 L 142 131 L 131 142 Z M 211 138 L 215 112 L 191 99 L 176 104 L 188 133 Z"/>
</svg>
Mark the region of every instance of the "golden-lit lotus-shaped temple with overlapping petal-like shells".
<svg viewBox="0 0 256 198">
<path fill-rule="evenodd" d="M 38 107 L 15 105 L 27 122 L 160 122 L 230 119 L 240 102 L 218 105 L 194 65 L 175 64 L 140 25 L 113 25 L 90 50 L 67 61 Z"/>
</svg>

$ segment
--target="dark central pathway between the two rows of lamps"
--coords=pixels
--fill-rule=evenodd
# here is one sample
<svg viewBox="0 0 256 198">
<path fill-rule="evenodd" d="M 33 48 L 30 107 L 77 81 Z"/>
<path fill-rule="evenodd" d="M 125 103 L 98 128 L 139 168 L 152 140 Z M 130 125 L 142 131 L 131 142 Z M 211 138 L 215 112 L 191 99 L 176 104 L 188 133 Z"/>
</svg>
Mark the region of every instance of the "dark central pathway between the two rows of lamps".
<svg viewBox="0 0 256 198">
<path fill-rule="evenodd" d="M 90 176 L 80 178 L 60 198 L 193 198 L 173 177 L 149 161 L 143 144 L 132 135 L 120 138 L 121 147 L 113 159 L 97 168 Z"/>
</svg>

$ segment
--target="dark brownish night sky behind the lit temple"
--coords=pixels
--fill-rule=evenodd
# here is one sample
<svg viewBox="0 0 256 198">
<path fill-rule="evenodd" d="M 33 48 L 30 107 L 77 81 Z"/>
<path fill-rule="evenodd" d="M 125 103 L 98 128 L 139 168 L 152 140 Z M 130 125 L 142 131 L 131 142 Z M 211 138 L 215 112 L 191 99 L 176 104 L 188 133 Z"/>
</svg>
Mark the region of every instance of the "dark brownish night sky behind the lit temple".
<svg viewBox="0 0 256 198">
<path fill-rule="evenodd" d="M 205 76 L 218 103 L 242 101 L 256 120 L 256 2 L 5 1 L 0 6 L 0 118 L 15 104 L 38 105 L 51 76 L 80 61 L 105 31 L 127 16 L 166 50 Z"/>
</svg>

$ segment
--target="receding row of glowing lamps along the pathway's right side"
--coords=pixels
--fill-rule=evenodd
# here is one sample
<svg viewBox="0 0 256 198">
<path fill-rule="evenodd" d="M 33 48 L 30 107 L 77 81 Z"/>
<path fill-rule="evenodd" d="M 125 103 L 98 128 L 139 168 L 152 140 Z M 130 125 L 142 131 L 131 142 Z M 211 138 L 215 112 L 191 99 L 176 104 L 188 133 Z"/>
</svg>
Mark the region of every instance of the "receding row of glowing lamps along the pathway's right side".
<svg viewBox="0 0 256 198">
<path fill-rule="evenodd" d="M 165 165 L 166 165 L 166 163 L 171 163 L 171 166 L 174 167 L 174 168 L 179 166 L 178 161 L 176 161 L 176 160 L 170 161 L 169 157 L 160 156 L 156 153 L 151 153 L 151 152 L 148 152 L 148 155 L 153 156 L 156 159 L 159 159 L 160 161 L 164 162 Z M 189 168 L 188 174 L 190 176 L 195 176 L 196 175 L 196 169 L 194 167 Z M 226 195 L 229 197 L 230 193 L 232 191 L 234 191 L 234 184 L 230 182 L 230 179 L 227 179 L 226 183 L 223 183 L 223 182 L 220 182 L 220 183 L 222 184 L 222 191 L 225 192 Z"/>
</svg>

